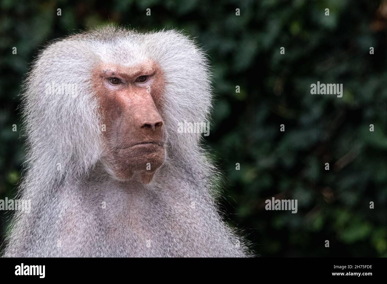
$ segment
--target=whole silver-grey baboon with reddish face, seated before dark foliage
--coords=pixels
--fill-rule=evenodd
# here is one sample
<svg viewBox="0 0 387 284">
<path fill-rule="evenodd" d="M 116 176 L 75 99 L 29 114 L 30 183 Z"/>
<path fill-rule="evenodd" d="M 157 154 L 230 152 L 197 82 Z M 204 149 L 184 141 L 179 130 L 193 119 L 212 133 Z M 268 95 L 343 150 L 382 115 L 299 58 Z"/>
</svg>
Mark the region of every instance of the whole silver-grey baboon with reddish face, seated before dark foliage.
<svg viewBox="0 0 387 284">
<path fill-rule="evenodd" d="M 108 26 L 48 45 L 22 91 L 31 213 L 16 213 L 4 256 L 250 256 L 222 221 L 202 136 L 177 131 L 208 121 L 211 92 L 179 31 Z"/>
</svg>

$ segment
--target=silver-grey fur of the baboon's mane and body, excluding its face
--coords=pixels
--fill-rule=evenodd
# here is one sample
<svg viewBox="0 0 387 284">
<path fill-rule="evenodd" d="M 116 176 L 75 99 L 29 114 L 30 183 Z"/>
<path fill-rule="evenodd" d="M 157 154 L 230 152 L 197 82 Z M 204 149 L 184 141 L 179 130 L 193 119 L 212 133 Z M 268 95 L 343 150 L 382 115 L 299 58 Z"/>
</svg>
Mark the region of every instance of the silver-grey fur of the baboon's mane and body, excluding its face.
<svg viewBox="0 0 387 284">
<path fill-rule="evenodd" d="M 112 179 L 104 169 L 101 122 L 91 70 L 103 62 L 158 62 L 167 80 L 166 160 L 147 185 Z M 222 221 L 218 174 L 199 133 L 178 122 L 208 121 L 212 97 L 204 53 L 177 31 L 146 34 L 104 27 L 50 44 L 34 62 L 24 92 L 27 138 L 22 199 L 6 257 L 244 257 Z M 76 97 L 48 95 L 47 83 L 76 83 Z M 61 170 L 57 164 L 61 164 Z M 106 208 L 102 209 L 102 203 Z"/>
</svg>

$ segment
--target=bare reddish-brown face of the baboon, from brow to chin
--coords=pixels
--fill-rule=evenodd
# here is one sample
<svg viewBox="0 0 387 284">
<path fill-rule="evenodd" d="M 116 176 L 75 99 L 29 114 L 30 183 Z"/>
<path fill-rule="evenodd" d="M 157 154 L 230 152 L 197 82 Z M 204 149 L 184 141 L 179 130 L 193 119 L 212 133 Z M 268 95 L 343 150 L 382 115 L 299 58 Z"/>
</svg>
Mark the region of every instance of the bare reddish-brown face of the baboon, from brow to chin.
<svg viewBox="0 0 387 284">
<path fill-rule="evenodd" d="M 103 163 L 120 180 L 147 184 L 164 162 L 163 83 L 162 70 L 152 61 L 131 67 L 102 64 L 93 72 Z"/>
</svg>

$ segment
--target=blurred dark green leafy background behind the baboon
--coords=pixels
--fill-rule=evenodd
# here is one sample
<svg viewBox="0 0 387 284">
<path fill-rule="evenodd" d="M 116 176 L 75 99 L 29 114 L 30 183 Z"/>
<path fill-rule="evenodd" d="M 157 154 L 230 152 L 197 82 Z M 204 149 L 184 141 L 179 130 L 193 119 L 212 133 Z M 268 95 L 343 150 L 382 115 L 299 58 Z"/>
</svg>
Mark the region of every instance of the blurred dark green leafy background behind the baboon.
<svg viewBox="0 0 387 284">
<path fill-rule="evenodd" d="M 0 0 L 0 5 L 0 199 L 14 197 L 21 178 L 18 94 L 39 49 L 107 23 L 140 31 L 178 28 L 196 37 L 211 60 L 216 103 L 206 145 L 224 174 L 221 209 L 228 222 L 243 229 L 264 257 L 387 256 L 386 2 Z M 311 95 L 310 84 L 317 81 L 342 83 L 343 97 Z M 297 199 L 298 213 L 265 211 L 272 196 Z M 0 243 L 11 216 L 0 211 Z"/>
</svg>

